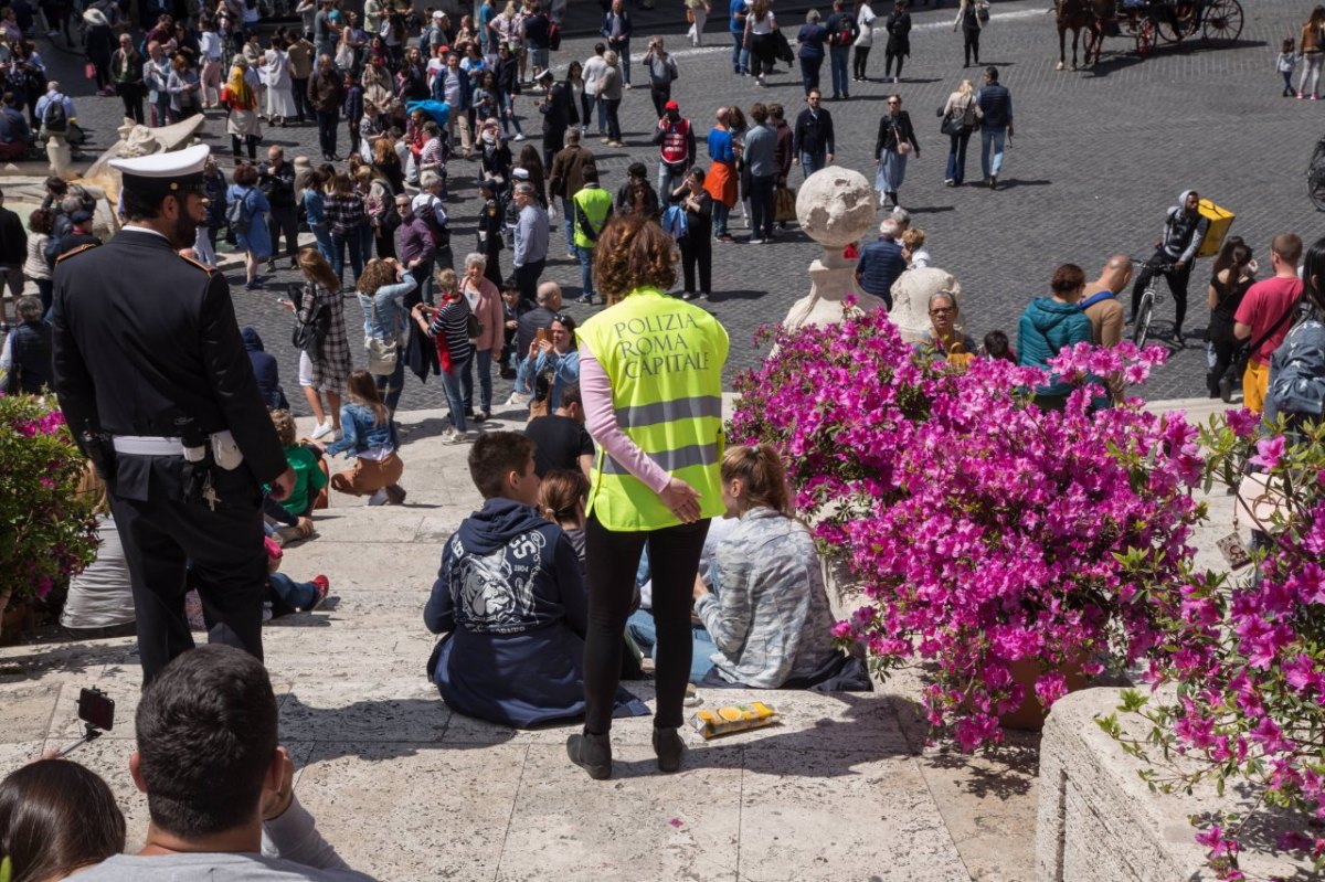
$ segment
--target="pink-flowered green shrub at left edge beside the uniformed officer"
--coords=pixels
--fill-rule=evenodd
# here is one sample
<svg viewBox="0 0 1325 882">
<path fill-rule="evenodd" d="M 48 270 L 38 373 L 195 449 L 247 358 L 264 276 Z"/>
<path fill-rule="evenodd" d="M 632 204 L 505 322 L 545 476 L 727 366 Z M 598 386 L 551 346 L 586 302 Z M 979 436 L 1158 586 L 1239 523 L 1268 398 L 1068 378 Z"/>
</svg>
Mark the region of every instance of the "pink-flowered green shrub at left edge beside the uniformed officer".
<svg viewBox="0 0 1325 882">
<path fill-rule="evenodd" d="M 53 397 L 0 396 L 0 611 L 45 599 L 97 558 L 82 470 Z"/>
</svg>

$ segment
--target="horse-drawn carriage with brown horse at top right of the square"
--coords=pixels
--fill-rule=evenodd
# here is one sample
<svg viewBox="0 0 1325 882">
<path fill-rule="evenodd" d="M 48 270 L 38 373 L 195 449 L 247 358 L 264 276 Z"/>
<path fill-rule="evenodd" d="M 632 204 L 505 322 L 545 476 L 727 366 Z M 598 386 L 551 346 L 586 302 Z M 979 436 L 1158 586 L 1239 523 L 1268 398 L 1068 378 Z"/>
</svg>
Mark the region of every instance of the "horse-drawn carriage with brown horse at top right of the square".
<svg viewBox="0 0 1325 882">
<path fill-rule="evenodd" d="M 1238 0 L 1056 0 L 1059 70 L 1067 62 L 1065 36 L 1072 32 L 1072 69 L 1081 30 L 1086 32 L 1085 64 L 1100 60 L 1105 37 L 1130 37 L 1137 54 L 1147 56 L 1158 42 L 1181 42 L 1198 33 L 1207 42 L 1232 42 L 1242 34 Z"/>
</svg>

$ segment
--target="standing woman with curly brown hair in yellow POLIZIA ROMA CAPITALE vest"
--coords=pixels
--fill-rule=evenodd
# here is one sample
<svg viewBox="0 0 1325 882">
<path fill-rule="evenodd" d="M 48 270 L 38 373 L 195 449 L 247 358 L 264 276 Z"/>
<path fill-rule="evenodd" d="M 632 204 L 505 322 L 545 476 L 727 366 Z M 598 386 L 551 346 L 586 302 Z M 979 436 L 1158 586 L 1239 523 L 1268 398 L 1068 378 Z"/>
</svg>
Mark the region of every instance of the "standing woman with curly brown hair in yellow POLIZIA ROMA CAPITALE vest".
<svg viewBox="0 0 1325 882">
<path fill-rule="evenodd" d="M 594 249 L 594 275 L 611 306 L 579 331 L 580 393 L 598 453 L 584 531 L 584 732 L 567 739 L 566 751 L 590 776 L 606 779 L 621 634 L 645 546 L 657 625 L 653 750 L 661 771 L 681 765 L 692 589 L 709 519 L 723 513 L 727 332 L 666 294 L 676 283 L 676 244 L 645 216 L 608 221 Z"/>
</svg>

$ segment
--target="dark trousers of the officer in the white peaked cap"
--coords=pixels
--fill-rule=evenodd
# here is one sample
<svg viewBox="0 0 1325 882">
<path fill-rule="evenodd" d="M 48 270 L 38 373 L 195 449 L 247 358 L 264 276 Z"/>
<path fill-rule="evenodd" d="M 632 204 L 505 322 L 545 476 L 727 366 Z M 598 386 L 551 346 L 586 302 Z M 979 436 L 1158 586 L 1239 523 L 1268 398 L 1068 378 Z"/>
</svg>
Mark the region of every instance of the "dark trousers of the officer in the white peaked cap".
<svg viewBox="0 0 1325 882">
<path fill-rule="evenodd" d="M 215 470 L 216 510 L 183 501 L 183 457 L 117 458 L 110 494 L 134 589 L 143 685 L 193 648 L 184 617 L 186 563 L 203 600 L 207 638 L 262 658 L 261 493 L 245 466 Z"/>
</svg>

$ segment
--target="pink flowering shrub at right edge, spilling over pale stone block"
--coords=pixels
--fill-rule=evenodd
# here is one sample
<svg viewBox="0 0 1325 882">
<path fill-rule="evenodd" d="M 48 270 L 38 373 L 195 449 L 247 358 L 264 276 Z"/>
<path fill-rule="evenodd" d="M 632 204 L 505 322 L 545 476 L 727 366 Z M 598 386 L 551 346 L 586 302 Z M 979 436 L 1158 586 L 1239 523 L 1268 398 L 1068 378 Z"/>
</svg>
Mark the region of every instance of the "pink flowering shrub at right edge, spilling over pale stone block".
<svg viewBox="0 0 1325 882">
<path fill-rule="evenodd" d="M 1268 535 L 1268 547 L 1240 573 L 1185 579 L 1175 614 L 1159 621 L 1173 652 L 1151 656 L 1147 671 L 1155 685 L 1177 683 L 1177 697 L 1129 690 L 1120 709 L 1141 714 L 1149 731 L 1128 738 L 1117 715 L 1100 720 L 1150 763 L 1151 787 L 1210 780 L 1223 793 L 1228 780 L 1256 785 L 1251 810 L 1200 821 L 1196 840 L 1224 879 L 1247 878 L 1238 857 L 1261 808 L 1287 809 L 1279 850 L 1325 873 L 1325 426 L 1285 437 L 1277 425 L 1257 436 L 1259 422 L 1249 411 L 1230 411 L 1202 429 L 1202 444 L 1210 483 L 1234 483 L 1247 461 L 1269 475 L 1279 505 L 1239 513 Z M 1181 763 L 1169 761 L 1174 754 Z"/>
</svg>

